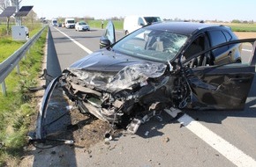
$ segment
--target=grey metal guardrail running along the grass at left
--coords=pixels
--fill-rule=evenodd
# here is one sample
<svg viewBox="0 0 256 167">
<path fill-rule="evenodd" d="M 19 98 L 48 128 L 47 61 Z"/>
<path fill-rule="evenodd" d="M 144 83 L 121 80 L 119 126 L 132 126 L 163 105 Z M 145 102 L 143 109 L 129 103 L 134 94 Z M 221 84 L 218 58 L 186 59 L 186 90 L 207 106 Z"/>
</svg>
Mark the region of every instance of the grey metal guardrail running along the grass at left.
<svg viewBox="0 0 256 167">
<path fill-rule="evenodd" d="M 4 96 L 6 96 L 4 79 L 9 76 L 9 74 L 15 67 L 17 67 L 17 71 L 19 74 L 19 61 L 26 55 L 26 52 L 34 44 L 34 42 L 39 39 L 41 33 L 46 27 L 47 26 L 42 27 L 39 33 L 36 33 L 30 40 L 27 40 L 22 47 L 20 47 L 17 51 L 11 54 L 11 56 L 4 60 L 4 62 L 0 63 L 0 83 Z"/>
</svg>

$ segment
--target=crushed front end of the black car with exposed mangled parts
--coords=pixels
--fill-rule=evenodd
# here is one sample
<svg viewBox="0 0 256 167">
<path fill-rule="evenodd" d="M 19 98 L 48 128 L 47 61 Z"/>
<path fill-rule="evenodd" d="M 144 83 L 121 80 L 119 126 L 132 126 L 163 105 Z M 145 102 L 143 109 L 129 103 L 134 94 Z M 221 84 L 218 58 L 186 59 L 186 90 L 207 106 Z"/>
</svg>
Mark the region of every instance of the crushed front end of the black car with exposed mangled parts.
<svg viewBox="0 0 256 167">
<path fill-rule="evenodd" d="M 165 108 L 184 107 L 189 101 L 191 92 L 179 72 L 159 63 L 127 66 L 116 75 L 66 69 L 59 82 L 81 113 L 135 133 L 140 123 Z"/>
</svg>

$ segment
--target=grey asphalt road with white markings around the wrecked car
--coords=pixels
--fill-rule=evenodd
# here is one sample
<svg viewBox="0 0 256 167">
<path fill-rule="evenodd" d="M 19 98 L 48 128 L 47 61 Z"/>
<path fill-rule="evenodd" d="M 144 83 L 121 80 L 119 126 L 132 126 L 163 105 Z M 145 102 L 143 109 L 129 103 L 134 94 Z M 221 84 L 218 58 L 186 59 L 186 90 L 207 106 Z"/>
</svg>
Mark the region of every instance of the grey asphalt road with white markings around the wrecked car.
<svg viewBox="0 0 256 167">
<path fill-rule="evenodd" d="M 99 49 L 103 31 L 76 32 L 50 27 L 49 74 L 57 76 L 81 57 Z M 117 39 L 124 36 L 117 32 Z M 250 54 L 244 48 L 245 55 Z M 252 84 L 244 111 L 187 112 L 186 118 L 169 122 L 150 120 L 137 134 L 122 135 L 109 144 L 99 143 L 88 151 L 63 149 L 63 166 L 256 166 L 256 89 Z M 36 157 L 52 161 L 53 157 Z M 34 166 L 39 165 L 34 161 Z M 50 166 L 46 163 L 45 166 Z M 43 166 L 43 165 L 41 165 Z"/>
</svg>

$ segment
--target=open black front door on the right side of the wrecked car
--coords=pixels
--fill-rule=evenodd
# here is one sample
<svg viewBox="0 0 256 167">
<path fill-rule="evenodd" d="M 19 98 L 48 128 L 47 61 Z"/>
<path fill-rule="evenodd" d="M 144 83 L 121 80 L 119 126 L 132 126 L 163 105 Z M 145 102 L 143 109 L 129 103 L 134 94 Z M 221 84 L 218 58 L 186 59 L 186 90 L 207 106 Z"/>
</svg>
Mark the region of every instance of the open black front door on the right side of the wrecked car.
<svg viewBox="0 0 256 167">
<path fill-rule="evenodd" d="M 254 50 L 255 44 L 249 63 L 192 68 L 188 75 L 193 95 L 190 107 L 215 110 L 243 109 L 255 74 Z"/>
</svg>

